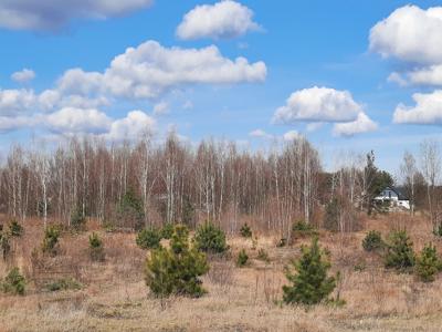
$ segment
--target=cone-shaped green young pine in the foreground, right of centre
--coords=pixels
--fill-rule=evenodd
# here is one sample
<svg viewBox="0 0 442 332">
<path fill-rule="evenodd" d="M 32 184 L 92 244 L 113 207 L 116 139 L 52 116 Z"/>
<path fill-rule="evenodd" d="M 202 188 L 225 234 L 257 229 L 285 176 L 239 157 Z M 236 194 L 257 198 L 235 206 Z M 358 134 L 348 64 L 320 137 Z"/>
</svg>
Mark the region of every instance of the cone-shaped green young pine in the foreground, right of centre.
<svg viewBox="0 0 442 332">
<path fill-rule="evenodd" d="M 302 247 L 299 260 L 292 261 L 296 273 L 286 268 L 286 278 L 291 282 L 283 287 L 285 303 L 317 304 L 327 300 L 336 287 L 336 278 L 328 277 L 330 269 L 329 253 L 322 250 L 318 239 L 312 240 L 311 247 Z"/>
</svg>

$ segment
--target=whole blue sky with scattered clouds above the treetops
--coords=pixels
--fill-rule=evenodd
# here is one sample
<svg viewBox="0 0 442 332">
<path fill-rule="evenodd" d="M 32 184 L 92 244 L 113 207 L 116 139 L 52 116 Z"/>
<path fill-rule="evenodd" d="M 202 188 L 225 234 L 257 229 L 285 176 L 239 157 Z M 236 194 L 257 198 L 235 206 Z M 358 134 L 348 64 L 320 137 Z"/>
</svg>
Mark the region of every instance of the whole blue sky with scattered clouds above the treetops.
<svg viewBox="0 0 442 332">
<path fill-rule="evenodd" d="M 373 149 L 397 173 L 441 138 L 438 4 L 1 0 L 0 155 L 73 135 L 252 149 L 303 135 L 326 169 Z"/>
</svg>

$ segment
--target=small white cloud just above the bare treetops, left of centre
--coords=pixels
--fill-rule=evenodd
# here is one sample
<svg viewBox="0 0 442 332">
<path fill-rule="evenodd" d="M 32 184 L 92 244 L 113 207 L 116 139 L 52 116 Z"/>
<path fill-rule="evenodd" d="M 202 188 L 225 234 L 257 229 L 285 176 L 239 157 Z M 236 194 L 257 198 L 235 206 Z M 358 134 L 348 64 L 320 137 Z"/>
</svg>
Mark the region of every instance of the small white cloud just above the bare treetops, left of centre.
<svg viewBox="0 0 442 332">
<path fill-rule="evenodd" d="M 109 141 L 137 139 L 146 133 L 152 133 L 156 122 L 143 111 L 131 111 L 125 118 L 112 123 L 106 138 Z"/>
</svg>

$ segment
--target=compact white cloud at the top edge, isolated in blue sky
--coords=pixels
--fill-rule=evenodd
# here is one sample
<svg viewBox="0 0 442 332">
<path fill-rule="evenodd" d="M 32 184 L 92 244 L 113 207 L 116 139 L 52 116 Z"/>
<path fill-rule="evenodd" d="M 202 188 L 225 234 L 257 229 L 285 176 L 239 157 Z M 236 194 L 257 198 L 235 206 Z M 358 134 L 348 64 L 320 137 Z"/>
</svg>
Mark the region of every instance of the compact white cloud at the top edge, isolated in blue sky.
<svg viewBox="0 0 442 332">
<path fill-rule="evenodd" d="M 177 28 L 177 35 L 182 40 L 201 38 L 230 39 L 259 30 L 253 22 L 253 11 L 248 7 L 224 0 L 214 4 L 197 6 L 186 13 Z"/>
</svg>

